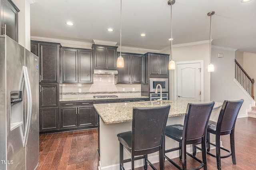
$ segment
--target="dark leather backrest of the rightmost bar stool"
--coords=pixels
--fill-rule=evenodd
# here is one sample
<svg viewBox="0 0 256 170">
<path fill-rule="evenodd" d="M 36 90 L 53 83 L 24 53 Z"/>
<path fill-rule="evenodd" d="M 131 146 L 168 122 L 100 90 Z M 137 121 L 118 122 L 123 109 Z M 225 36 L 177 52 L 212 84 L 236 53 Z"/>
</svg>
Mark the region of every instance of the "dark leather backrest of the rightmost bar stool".
<svg viewBox="0 0 256 170">
<path fill-rule="evenodd" d="M 244 99 L 237 101 L 225 100 L 223 102 L 216 127 L 216 131 L 219 131 L 218 129 L 220 129 L 220 133 L 222 133 L 221 135 L 231 133 L 243 102 Z"/>
</svg>

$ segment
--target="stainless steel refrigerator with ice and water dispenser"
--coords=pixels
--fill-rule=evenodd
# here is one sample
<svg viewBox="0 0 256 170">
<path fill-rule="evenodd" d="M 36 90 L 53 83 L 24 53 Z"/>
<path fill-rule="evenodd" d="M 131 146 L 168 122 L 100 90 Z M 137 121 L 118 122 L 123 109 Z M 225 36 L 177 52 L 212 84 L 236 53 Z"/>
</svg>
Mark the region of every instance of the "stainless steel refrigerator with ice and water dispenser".
<svg viewBox="0 0 256 170">
<path fill-rule="evenodd" d="M 0 36 L 0 170 L 39 162 L 38 57 Z"/>
</svg>

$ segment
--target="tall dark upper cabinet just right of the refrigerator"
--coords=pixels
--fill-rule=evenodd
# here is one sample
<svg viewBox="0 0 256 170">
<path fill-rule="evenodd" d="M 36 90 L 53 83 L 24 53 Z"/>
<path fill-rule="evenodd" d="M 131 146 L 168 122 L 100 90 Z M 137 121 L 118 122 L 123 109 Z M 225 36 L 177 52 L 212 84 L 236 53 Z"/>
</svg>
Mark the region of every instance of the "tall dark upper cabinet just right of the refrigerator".
<svg viewBox="0 0 256 170">
<path fill-rule="evenodd" d="M 58 83 L 60 43 L 31 41 L 30 48 L 39 57 L 40 83 Z"/>
</svg>

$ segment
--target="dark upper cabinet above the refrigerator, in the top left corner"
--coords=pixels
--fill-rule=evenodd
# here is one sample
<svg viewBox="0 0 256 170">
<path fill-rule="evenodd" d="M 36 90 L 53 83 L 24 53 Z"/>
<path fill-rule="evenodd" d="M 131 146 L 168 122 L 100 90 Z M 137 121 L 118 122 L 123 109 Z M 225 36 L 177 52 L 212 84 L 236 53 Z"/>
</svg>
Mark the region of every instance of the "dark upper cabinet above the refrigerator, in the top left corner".
<svg viewBox="0 0 256 170">
<path fill-rule="evenodd" d="M 11 0 L 0 0 L 0 35 L 6 34 L 18 42 L 18 12 Z"/>
</svg>

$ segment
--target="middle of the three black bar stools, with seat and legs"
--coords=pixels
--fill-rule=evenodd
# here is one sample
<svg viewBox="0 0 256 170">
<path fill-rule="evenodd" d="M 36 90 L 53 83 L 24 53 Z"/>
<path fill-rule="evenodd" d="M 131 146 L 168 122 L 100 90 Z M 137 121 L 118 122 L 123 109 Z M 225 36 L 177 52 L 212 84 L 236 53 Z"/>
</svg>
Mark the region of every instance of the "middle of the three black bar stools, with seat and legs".
<svg viewBox="0 0 256 170">
<path fill-rule="evenodd" d="M 176 168 L 180 170 L 187 169 L 186 154 L 191 156 L 196 161 L 200 162 L 200 166 L 193 168 L 193 170 L 199 170 L 204 167 L 207 170 L 206 160 L 206 128 L 212 112 L 214 102 L 192 104 L 188 103 L 187 111 L 184 119 L 184 125 L 169 125 L 166 126 L 165 136 L 172 138 L 179 142 L 178 148 L 172 148 L 165 150 L 164 157 L 171 162 Z M 199 160 L 192 154 L 186 152 L 187 144 L 202 144 L 202 158 L 203 161 Z M 166 156 L 167 152 L 179 150 L 180 159 L 182 159 L 182 167 L 178 166 L 170 158 Z"/>
</svg>

